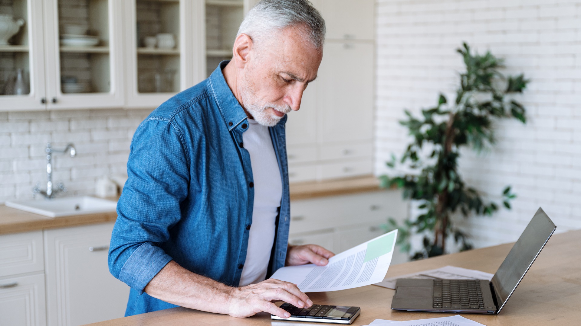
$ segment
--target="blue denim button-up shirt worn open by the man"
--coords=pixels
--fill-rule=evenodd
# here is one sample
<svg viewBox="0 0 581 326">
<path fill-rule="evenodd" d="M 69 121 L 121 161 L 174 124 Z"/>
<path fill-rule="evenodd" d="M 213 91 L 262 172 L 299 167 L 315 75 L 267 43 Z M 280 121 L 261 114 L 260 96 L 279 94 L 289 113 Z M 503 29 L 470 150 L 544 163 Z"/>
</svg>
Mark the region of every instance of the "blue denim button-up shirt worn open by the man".
<svg viewBox="0 0 581 326">
<path fill-rule="evenodd" d="M 254 189 L 243 108 L 222 61 L 205 81 L 171 97 L 139 125 L 117 204 L 109 270 L 131 287 L 125 316 L 176 307 L 145 286 L 170 260 L 237 286 L 246 260 Z M 282 200 L 268 276 L 284 266 L 289 230 L 286 115 L 269 128 Z"/>
</svg>

